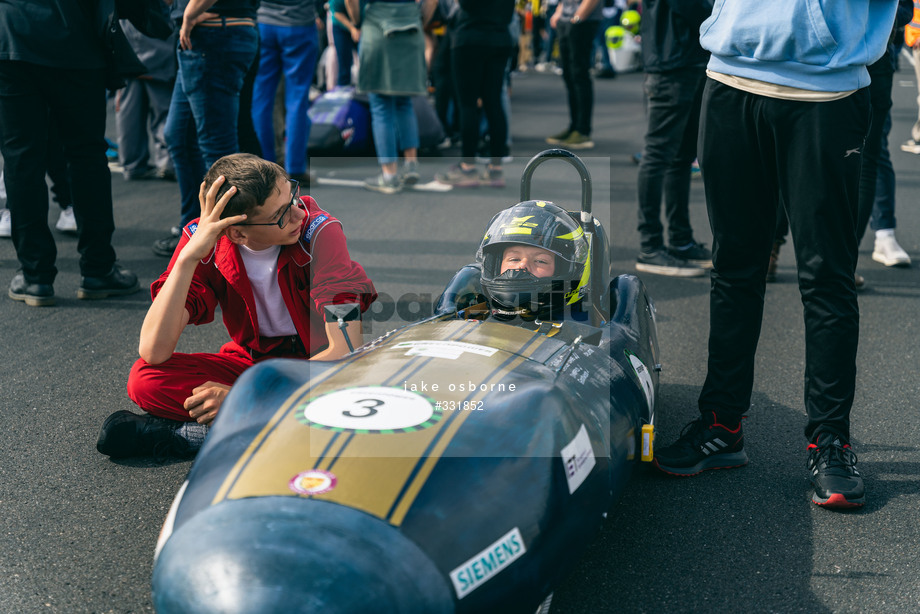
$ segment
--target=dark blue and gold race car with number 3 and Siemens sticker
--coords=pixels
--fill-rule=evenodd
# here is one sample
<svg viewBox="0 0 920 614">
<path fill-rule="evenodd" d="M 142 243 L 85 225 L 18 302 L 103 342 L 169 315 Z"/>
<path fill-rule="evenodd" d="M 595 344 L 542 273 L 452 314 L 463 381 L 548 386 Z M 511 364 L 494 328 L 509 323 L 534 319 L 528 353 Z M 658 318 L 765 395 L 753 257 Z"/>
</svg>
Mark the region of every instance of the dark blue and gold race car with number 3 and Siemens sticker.
<svg viewBox="0 0 920 614">
<path fill-rule="evenodd" d="M 529 193 L 534 170 L 557 159 L 582 179 L 581 211 L 562 220 Z M 493 279 L 524 276 L 487 274 L 491 228 L 506 239 L 539 232 L 530 216 L 499 215 L 432 317 L 339 361 L 249 369 L 164 523 L 156 610 L 548 607 L 653 454 L 655 310 L 639 278 L 610 278 L 590 195 L 582 161 L 554 149 L 528 163 L 512 208 L 555 215 L 554 245 L 581 250 L 570 267 L 577 291 L 564 292 L 569 317 L 496 307 Z"/>
</svg>

